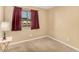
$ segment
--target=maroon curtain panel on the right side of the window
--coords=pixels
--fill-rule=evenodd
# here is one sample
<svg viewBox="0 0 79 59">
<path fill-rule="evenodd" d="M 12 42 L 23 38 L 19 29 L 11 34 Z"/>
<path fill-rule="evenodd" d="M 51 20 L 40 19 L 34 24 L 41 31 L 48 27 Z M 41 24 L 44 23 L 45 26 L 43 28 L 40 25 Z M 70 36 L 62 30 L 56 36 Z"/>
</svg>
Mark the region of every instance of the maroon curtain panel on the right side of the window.
<svg viewBox="0 0 79 59">
<path fill-rule="evenodd" d="M 31 29 L 39 29 L 39 17 L 37 10 L 31 10 Z"/>
</svg>

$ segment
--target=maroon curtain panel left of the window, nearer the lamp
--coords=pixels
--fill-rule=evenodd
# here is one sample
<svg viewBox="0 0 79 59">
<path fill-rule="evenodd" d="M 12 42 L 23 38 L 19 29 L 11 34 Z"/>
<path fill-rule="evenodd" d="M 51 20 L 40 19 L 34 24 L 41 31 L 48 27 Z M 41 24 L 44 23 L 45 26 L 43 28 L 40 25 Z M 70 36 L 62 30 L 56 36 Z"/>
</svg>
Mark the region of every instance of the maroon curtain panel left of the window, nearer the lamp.
<svg viewBox="0 0 79 59">
<path fill-rule="evenodd" d="M 12 31 L 21 30 L 21 11 L 22 8 L 14 7 L 13 19 L 12 19 Z"/>
</svg>

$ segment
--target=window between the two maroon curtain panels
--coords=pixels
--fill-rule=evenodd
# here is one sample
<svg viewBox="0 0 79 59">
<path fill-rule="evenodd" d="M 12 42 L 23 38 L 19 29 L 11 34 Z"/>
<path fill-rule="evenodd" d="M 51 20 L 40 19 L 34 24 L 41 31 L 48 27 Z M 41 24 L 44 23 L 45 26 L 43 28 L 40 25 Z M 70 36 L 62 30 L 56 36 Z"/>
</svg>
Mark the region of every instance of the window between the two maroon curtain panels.
<svg viewBox="0 0 79 59">
<path fill-rule="evenodd" d="M 22 10 L 22 28 L 29 28 L 31 26 L 30 11 Z"/>
</svg>

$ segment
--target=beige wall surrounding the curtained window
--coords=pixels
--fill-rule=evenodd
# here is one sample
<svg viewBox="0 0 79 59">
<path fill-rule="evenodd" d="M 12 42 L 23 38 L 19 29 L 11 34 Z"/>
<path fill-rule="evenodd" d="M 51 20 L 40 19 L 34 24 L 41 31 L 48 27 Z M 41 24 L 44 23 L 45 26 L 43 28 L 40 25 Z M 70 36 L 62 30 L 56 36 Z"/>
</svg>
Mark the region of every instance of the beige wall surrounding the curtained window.
<svg viewBox="0 0 79 59">
<path fill-rule="evenodd" d="M 5 7 L 5 19 L 6 21 L 12 22 L 12 14 L 13 14 L 13 8 L 12 6 Z M 21 40 L 28 40 L 31 38 L 36 38 L 40 36 L 44 36 L 47 34 L 47 11 L 44 9 L 39 9 L 35 7 L 22 7 L 26 9 L 35 9 L 39 12 L 39 23 L 40 23 L 40 29 L 37 30 L 22 30 L 22 31 L 11 31 L 7 33 L 7 36 L 13 37 L 13 42 L 21 41 Z"/>
</svg>

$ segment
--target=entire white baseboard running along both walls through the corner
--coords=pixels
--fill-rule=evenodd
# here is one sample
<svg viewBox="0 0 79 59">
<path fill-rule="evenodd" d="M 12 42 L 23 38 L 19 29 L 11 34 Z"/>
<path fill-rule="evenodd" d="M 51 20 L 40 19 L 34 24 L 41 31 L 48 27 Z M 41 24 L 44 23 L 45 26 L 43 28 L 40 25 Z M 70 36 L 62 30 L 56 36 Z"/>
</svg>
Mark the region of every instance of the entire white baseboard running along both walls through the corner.
<svg viewBox="0 0 79 59">
<path fill-rule="evenodd" d="M 51 38 L 51 39 L 53 39 L 53 40 L 55 40 L 55 41 L 57 41 L 57 42 L 60 42 L 60 43 L 66 45 L 66 46 L 68 46 L 68 47 L 70 47 L 70 48 L 72 48 L 72 49 L 74 49 L 74 50 L 76 50 L 76 51 L 79 51 L 78 48 L 76 48 L 76 47 L 74 47 L 74 46 L 72 46 L 72 45 L 69 45 L 69 44 L 67 44 L 67 43 L 65 43 L 65 42 L 63 42 L 63 41 L 61 41 L 61 40 L 58 40 L 58 39 L 56 39 L 56 38 L 54 38 L 54 37 L 52 37 L 52 36 L 49 36 L 49 35 L 40 36 L 40 37 L 37 37 L 37 38 L 28 39 L 28 40 L 22 40 L 22 41 L 18 41 L 18 42 L 14 42 L 14 43 L 11 43 L 10 46 L 15 46 L 16 44 L 20 44 L 20 43 L 24 43 L 24 42 L 28 42 L 28 41 L 32 41 L 32 40 L 37 40 L 37 39 L 41 39 L 41 38 L 45 38 L 45 37 L 49 37 L 49 38 Z"/>
</svg>

